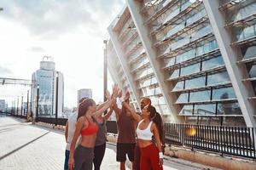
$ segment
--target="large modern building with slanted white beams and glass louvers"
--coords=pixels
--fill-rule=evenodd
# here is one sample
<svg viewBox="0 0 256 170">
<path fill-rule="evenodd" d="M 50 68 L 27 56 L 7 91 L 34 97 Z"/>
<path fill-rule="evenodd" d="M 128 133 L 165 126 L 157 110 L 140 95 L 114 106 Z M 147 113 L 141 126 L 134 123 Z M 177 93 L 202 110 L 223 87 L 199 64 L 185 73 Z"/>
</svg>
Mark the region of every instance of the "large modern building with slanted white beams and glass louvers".
<svg viewBox="0 0 256 170">
<path fill-rule="evenodd" d="M 255 0 L 126 0 L 108 68 L 166 122 L 255 127 Z"/>
</svg>

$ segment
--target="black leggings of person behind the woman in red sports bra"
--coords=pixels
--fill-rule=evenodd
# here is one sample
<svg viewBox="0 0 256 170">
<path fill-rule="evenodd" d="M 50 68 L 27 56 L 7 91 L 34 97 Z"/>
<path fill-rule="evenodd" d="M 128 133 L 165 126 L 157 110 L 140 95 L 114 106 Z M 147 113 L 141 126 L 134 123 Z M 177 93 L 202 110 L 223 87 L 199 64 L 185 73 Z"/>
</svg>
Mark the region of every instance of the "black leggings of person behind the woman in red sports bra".
<svg viewBox="0 0 256 170">
<path fill-rule="evenodd" d="M 102 164 L 103 157 L 105 155 L 105 150 L 106 150 L 106 143 L 102 144 L 102 145 L 95 146 L 94 159 L 93 159 L 93 164 L 94 164 L 95 170 L 101 169 L 101 164 Z"/>
</svg>

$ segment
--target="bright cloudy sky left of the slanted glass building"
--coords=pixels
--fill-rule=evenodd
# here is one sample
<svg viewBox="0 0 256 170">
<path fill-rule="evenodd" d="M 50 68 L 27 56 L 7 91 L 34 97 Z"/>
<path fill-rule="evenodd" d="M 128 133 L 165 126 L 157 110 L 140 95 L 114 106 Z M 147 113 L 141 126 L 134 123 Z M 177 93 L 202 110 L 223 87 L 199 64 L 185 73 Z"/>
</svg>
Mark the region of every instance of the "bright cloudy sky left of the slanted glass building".
<svg viewBox="0 0 256 170">
<path fill-rule="evenodd" d="M 93 99 L 102 101 L 103 40 L 124 4 L 125 0 L 1 0 L 0 77 L 31 79 L 43 57 L 52 56 L 55 69 L 64 75 L 64 106 L 76 106 L 79 88 L 91 88 Z M 26 94 L 25 88 L 2 86 L 0 99 L 13 99 L 19 90 Z"/>
</svg>

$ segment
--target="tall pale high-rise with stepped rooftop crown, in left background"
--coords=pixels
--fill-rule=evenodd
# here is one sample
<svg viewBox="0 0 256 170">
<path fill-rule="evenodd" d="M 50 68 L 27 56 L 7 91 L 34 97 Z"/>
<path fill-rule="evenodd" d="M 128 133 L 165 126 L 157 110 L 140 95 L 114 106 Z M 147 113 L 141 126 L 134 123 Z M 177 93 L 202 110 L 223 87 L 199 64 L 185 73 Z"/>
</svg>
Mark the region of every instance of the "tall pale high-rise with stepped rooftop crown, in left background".
<svg viewBox="0 0 256 170">
<path fill-rule="evenodd" d="M 38 95 L 39 94 L 39 95 Z M 60 71 L 55 71 L 55 62 L 44 56 L 40 69 L 32 74 L 32 113 L 36 116 L 61 115 L 64 104 L 64 80 Z"/>
</svg>

